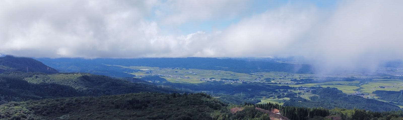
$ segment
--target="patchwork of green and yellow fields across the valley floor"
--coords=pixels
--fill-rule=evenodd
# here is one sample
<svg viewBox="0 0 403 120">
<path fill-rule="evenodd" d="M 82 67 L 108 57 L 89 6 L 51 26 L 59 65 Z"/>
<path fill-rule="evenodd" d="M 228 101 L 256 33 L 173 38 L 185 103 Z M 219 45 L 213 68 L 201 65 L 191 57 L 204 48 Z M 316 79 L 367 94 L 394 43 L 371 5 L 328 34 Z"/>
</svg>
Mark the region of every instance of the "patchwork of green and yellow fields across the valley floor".
<svg viewBox="0 0 403 120">
<path fill-rule="evenodd" d="M 291 81 L 292 79 L 304 79 L 304 78 L 317 79 L 326 76 L 317 76 L 315 74 L 296 74 L 287 72 L 257 72 L 252 74 L 245 74 L 245 73 L 237 73 L 222 70 L 202 70 L 202 69 L 189 69 L 189 68 L 158 68 L 147 66 L 120 66 L 120 67 L 131 68 L 133 70 L 141 70 L 139 72 L 130 73 L 136 75 L 137 77 L 147 75 L 158 75 L 170 82 L 194 84 L 194 83 L 206 82 L 206 80 L 207 81 L 214 79 L 220 80 L 221 78 L 239 79 L 237 82 L 245 81 L 245 82 L 262 82 L 262 83 L 282 83 L 273 85 L 280 85 L 280 86 L 286 85 L 291 87 L 320 86 L 320 87 L 338 88 L 345 94 L 364 93 L 364 95 L 362 95 L 363 97 L 375 98 L 375 99 L 377 99 L 377 97 L 375 96 L 375 94 L 372 94 L 372 92 L 374 92 L 375 90 L 391 90 L 391 91 L 403 90 L 403 80 L 396 80 L 396 79 L 374 79 L 371 82 L 366 83 L 360 83 L 359 81 L 332 81 L 332 82 L 309 83 L 309 84 L 292 84 L 293 83 L 293 81 Z M 366 78 L 368 76 L 364 76 L 363 74 L 359 73 L 344 73 L 344 74 L 334 74 L 331 75 L 331 77 Z M 270 78 L 271 82 L 266 82 L 265 78 Z M 203 81 L 201 81 L 201 79 Z M 294 92 L 301 92 L 301 91 L 294 91 Z M 309 97 L 316 95 L 307 92 L 299 96 L 307 100 L 310 100 Z M 283 104 L 284 100 L 287 100 L 287 98 L 280 98 L 280 99 L 260 98 L 260 99 L 262 100 L 261 103 L 275 102 L 280 104 Z"/>
</svg>

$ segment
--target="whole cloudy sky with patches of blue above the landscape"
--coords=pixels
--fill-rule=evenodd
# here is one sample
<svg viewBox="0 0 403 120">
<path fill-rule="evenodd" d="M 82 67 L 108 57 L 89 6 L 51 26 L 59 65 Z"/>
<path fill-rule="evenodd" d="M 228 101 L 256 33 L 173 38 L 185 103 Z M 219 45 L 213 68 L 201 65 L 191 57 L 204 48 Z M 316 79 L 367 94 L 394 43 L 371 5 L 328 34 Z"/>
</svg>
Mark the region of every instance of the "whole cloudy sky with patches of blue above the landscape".
<svg viewBox="0 0 403 120">
<path fill-rule="evenodd" d="M 0 55 L 402 60 L 403 0 L 3 0 Z"/>
</svg>

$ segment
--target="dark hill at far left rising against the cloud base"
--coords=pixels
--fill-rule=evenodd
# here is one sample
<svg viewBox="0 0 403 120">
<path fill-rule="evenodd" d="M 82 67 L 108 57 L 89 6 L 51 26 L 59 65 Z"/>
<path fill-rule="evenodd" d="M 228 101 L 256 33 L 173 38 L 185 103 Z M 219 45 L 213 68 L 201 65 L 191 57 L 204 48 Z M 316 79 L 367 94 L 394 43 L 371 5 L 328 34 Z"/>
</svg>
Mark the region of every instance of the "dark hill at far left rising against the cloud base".
<svg viewBox="0 0 403 120">
<path fill-rule="evenodd" d="M 46 66 L 42 62 L 32 58 L 21 58 L 14 56 L 0 57 L 0 73 L 1 72 L 43 72 L 46 74 L 58 73 L 57 70 Z"/>
</svg>

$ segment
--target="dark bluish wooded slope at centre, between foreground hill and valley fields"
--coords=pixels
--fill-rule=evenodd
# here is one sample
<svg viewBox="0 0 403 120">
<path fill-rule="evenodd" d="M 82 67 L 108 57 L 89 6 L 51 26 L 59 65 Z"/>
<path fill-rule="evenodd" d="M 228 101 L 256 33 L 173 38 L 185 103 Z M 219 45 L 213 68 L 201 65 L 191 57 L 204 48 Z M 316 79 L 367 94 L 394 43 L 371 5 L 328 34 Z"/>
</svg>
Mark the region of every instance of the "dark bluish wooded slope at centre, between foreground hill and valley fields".
<svg viewBox="0 0 403 120">
<path fill-rule="evenodd" d="M 199 84 L 185 84 L 185 83 L 173 83 L 164 82 L 159 85 L 172 86 L 177 89 L 191 90 L 193 92 L 207 92 L 220 97 L 220 100 L 226 103 L 241 104 L 243 102 L 258 103 L 260 99 L 256 99 L 259 96 L 269 96 L 272 94 L 281 94 L 280 89 L 292 89 L 290 86 L 276 86 L 268 84 L 241 84 L 232 83 L 226 84 L 222 82 L 204 82 Z"/>
</svg>

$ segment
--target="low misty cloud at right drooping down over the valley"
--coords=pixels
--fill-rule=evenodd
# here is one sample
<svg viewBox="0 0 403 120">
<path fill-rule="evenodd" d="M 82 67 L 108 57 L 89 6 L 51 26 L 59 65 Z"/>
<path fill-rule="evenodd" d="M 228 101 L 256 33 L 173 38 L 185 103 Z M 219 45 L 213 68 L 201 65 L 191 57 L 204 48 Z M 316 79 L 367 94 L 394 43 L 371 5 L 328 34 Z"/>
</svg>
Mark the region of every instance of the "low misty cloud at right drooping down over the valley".
<svg viewBox="0 0 403 120">
<path fill-rule="evenodd" d="M 327 68 L 374 68 L 402 59 L 403 4 L 399 0 L 349 0 L 306 40 L 301 55 Z"/>
</svg>

